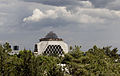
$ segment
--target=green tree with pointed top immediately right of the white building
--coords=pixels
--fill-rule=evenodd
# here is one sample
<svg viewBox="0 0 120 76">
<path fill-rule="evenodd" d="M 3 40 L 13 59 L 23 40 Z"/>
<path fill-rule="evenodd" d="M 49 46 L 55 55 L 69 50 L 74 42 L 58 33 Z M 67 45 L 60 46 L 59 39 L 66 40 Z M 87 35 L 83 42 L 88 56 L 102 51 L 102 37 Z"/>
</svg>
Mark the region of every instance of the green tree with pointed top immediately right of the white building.
<svg viewBox="0 0 120 76">
<path fill-rule="evenodd" d="M 84 63 L 87 63 L 87 57 L 84 56 L 84 52 L 80 51 L 80 48 L 79 46 L 75 46 L 71 52 L 65 55 L 63 63 L 66 64 L 69 75 L 88 75 L 87 70 L 84 69 Z"/>
</svg>

